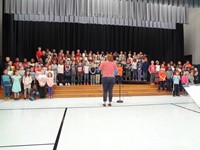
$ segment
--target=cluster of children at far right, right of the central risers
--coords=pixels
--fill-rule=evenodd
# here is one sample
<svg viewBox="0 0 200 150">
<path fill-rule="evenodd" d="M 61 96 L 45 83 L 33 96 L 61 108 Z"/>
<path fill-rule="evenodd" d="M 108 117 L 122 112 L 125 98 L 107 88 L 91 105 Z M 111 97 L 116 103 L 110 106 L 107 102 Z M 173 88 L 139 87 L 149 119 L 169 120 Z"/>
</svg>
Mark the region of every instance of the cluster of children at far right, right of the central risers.
<svg viewBox="0 0 200 150">
<path fill-rule="evenodd" d="M 184 91 L 185 85 L 193 85 L 199 82 L 198 69 L 186 61 L 182 65 L 181 61 L 174 64 L 173 61 L 167 65 L 163 62 L 161 65 L 159 61 L 151 61 L 149 66 L 150 82 L 151 84 L 158 83 L 158 91 L 165 89 L 172 91 L 173 96 L 179 96 L 179 91 Z"/>
</svg>

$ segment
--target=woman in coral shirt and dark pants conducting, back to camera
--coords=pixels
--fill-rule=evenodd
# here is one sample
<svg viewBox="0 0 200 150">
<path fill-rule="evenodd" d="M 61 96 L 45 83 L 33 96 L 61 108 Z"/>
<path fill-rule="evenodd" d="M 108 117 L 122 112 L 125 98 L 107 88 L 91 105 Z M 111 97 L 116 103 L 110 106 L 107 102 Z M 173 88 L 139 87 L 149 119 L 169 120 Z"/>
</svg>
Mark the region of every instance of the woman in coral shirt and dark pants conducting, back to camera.
<svg viewBox="0 0 200 150">
<path fill-rule="evenodd" d="M 113 86 L 115 84 L 114 70 L 117 70 L 117 66 L 113 61 L 112 55 L 107 55 L 107 61 L 101 63 L 99 70 L 103 72 L 102 85 L 103 85 L 103 106 L 106 106 L 107 93 L 109 93 L 108 106 L 112 106 Z"/>
</svg>

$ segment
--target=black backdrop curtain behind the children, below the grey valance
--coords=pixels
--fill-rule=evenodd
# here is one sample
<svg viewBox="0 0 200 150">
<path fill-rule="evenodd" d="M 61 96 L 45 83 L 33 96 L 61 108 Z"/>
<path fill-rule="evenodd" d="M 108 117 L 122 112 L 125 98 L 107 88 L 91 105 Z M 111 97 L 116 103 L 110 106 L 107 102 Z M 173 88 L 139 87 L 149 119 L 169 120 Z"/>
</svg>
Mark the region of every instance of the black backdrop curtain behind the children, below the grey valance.
<svg viewBox="0 0 200 150">
<path fill-rule="evenodd" d="M 3 56 L 32 58 L 38 46 L 50 49 L 92 51 L 143 51 L 150 59 L 184 58 L 183 25 L 176 30 L 128 26 L 21 22 L 4 14 Z"/>
</svg>

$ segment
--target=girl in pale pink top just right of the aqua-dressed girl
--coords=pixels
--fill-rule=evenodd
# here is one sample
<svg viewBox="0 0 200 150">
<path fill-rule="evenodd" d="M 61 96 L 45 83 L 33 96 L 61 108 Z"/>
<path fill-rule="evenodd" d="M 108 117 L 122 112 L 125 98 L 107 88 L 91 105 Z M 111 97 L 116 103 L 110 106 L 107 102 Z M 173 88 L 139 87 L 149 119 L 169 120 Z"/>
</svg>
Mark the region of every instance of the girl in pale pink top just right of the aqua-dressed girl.
<svg viewBox="0 0 200 150">
<path fill-rule="evenodd" d="M 26 99 L 27 92 L 30 95 L 31 83 L 32 83 L 32 78 L 30 76 L 29 71 L 25 71 L 25 75 L 23 76 L 22 82 L 24 84 L 24 99 Z"/>
</svg>

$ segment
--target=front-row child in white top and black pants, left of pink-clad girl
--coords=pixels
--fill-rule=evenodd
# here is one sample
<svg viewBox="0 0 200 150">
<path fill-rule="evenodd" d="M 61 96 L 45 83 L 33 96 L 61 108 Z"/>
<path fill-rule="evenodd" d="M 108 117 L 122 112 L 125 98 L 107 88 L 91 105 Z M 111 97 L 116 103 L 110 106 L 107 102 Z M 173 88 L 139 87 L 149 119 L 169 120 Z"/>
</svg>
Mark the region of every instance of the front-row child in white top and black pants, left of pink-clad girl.
<svg viewBox="0 0 200 150">
<path fill-rule="evenodd" d="M 44 74 L 44 70 L 41 70 L 41 74 L 38 76 L 39 82 L 39 93 L 40 98 L 46 98 L 46 83 L 47 83 L 47 76 Z"/>
</svg>

